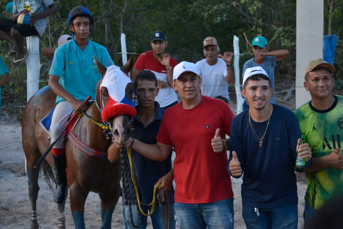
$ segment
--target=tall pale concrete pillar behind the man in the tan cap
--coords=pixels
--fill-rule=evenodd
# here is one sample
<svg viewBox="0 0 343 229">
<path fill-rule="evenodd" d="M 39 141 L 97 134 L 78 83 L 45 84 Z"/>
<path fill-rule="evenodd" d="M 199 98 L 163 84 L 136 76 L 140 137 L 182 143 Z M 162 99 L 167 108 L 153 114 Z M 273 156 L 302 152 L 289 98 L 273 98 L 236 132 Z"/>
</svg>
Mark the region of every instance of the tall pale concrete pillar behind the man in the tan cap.
<svg viewBox="0 0 343 229">
<path fill-rule="evenodd" d="M 304 88 L 304 70 L 309 61 L 323 58 L 323 0 L 297 0 L 296 108 L 311 100 Z"/>
</svg>

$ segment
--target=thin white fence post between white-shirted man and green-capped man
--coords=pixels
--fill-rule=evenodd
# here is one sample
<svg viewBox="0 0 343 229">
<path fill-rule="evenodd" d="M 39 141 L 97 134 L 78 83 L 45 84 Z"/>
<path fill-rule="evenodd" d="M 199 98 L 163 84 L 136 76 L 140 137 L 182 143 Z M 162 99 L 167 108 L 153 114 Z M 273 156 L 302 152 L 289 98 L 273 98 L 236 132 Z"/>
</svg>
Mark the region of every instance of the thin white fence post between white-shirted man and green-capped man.
<svg viewBox="0 0 343 229">
<path fill-rule="evenodd" d="M 239 38 L 237 36 L 234 36 L 234 72 L 235 72 L 235 89 L 236 89 L 236 97 L 237 97 L 237 114 L 241 113 L 243 111 L 243 102 L 244 99 L 241 94 L 241 88 L 240 88 L 240 74 L 239 74 Z"/>
</svg>

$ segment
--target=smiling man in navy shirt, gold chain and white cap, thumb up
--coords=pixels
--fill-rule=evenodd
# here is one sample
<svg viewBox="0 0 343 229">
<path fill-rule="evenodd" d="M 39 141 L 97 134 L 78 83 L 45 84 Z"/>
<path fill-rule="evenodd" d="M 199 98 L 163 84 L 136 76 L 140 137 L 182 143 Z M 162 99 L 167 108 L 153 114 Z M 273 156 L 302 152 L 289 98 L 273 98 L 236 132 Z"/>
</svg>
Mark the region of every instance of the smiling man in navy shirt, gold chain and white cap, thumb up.
<svg viewBox="0 0 343 229">
<path fill-rule="evenodd" d="M 297 149 L 306 160 L 311 149 L 308 143 L 299 146 L 301 132 L 294 113 L 269 103 L 272 89 L 263 68 L 245 71 L 242 94 L 249 109 L 232 119 L 227 171 L 234 178 L 243 174 L 242 216 L 247 229 L 297 229 L 294 163 Z M 215 152 L 223 150 L 222 142 L 216 135 L 212 139 Z"/>
</svg>

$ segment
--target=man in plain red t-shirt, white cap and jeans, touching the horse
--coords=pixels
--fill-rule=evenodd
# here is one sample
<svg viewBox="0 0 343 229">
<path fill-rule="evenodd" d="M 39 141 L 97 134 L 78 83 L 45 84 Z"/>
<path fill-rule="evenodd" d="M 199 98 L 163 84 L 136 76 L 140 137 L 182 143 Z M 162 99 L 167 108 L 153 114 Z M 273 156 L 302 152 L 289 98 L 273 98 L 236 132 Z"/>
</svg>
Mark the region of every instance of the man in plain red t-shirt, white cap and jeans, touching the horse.
<svg viewBox="0 0 343 229">
<path fill-rule="evenodd" d="M 201 81 L 195 64 L 178 64 L 171 86 L 179 92 L 181 102 L 165 111 L 157 143 L 149 145 L 130 138 L 127 143 L 116 145 L 132 147 L 157 161 L 165 160 L 174 145 L 174 209 L 179 228 L 233 228 L 227 144 L 215 153 L 211 140 L 213 133 L 222 138 L 229 135 L 234 114 L 222 100 L 201 95 Z"/>
</svg>

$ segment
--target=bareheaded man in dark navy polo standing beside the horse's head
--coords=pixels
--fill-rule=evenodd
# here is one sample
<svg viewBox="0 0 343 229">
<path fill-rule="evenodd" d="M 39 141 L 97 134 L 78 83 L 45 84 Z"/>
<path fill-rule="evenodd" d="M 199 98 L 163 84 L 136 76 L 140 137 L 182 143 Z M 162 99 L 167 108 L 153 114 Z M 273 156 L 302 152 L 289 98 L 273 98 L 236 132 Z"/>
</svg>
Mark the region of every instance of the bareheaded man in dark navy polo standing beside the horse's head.
<svg viewBox="0 0 343 229">
<path fill-rule="evenodd" d="M 147 144 L 156 144 L 156 135 L 161 125 L 164 110 L 161 109 L 158 102 L 154 102 L 159 88 L 157 88 L 157 79 L 155 74 L 149 70 L 138 72 L 134 80 L 135 94 L 137 95 L 138 105 L 136 106 L 137 115 L 133 119 L 133 130 L 131 137 L 138 139 Z M 143 204 L 150 204 L 154 195 L 154 186 L 156 183 L 162 183 L 158 187 L 163 189 L 164 193 L 169 192 L 170 195 L 170 229 L 175 229 L 174 218 L 174 171 L 171 169 L 171 154 L 164 161 L 153 161 L 142 156 L 132 149 L 134 178 L 136 180 L 139 199 Z M 111 162 L 119 159 L 119 148 L 112 144 L 108 149 L 108 159 Z M 135 225 L 139 224 L 139 214 L 134 206 L 135 200 L 133 197 L 134 189 L 129 182 L 130 197 L 132 205 L 132 218 Z M 125 228 L 134 228 L 131 224 L 130 212 L 128 203 L 122 196 L 123 215 L 125 218 Z M 151 206 L 141 205 L 145 213 L 151 211 Z M 165 205 L 162 206 L 164 213 L 166 212 Z M 165 228 L 166 217 L 163 215 L 158 205 L 151 215 L 153 228 Z M 147 217 L 142 215 L 142 225 L 139 228 L 146 228 Z"/>
</svg>

